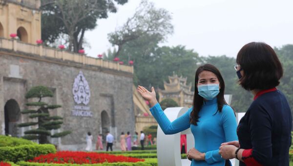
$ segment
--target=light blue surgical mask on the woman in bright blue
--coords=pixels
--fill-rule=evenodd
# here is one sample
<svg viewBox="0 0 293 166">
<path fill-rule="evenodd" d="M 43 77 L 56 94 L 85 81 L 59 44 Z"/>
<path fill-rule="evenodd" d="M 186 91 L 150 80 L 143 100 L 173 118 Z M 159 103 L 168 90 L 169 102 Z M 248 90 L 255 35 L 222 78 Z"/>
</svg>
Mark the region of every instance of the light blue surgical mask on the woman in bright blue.
<svg viewBox="0 0 293 166">
<path fill-rule="evenodd" d="M 197 89 L 198 95 L 204 97 L 206 100 L 212 100 L 220 93 L 219 84 L 199 85 Z"/>
</svg>

